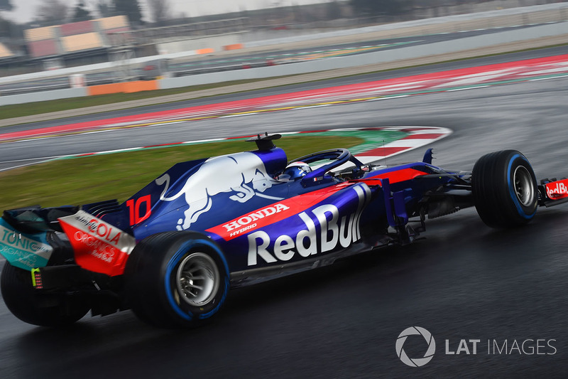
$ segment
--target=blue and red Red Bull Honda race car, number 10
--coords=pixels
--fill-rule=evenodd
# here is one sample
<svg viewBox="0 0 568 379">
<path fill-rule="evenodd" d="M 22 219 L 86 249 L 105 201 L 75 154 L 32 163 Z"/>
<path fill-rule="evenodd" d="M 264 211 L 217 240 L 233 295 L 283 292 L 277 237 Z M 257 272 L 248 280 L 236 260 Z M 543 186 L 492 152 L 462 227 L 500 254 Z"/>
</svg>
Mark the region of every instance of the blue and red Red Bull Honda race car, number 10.
<svg viewBox="0 0 568 379">
<path fill-rule="evenodd" d="M 175 164 L 124 203 L 19 208 L 0 219 L 1 291 L 19 319 L 71 324 L 132 309 L 168 328 L 202 324 L 230 288 L 322 265 L 425 231 L 426 218 L 475 206 L 494 228 L 568 201 L 568 179 L 537 183 L 506 150 L 472 172 L 362 164 L 346 149 L 288 164 L 279 134 L 255 151 Z"/>
</svg>

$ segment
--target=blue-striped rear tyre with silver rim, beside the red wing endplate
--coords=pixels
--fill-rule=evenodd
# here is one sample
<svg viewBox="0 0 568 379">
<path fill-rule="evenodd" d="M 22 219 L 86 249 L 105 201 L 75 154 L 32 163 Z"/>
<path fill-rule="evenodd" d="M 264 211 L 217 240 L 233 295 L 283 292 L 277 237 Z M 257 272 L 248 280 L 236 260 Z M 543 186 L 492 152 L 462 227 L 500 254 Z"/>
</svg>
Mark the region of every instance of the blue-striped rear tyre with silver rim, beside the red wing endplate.
<svg viewBox="0 0 568 379">
<path fill-rule="evenodd" d="M 134 314 L 163 328 L 200 326 L 219 311 L 229 291 L 221 249 L 190 231 L 158 233 L 139 242 L 124 276 Z"/>
</svg>

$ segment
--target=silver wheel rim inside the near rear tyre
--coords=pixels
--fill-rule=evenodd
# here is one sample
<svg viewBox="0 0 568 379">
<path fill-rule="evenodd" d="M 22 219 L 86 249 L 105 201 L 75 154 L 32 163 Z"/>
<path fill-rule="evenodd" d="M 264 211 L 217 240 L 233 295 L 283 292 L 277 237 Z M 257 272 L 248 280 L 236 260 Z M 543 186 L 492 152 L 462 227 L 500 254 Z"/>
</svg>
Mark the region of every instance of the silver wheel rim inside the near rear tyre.
<svg viewBox="0 0 568 379">
<path fill-rule="evenodd" d="M 180 297 L 191 306 L 203 306 L 217 294 L 219 269 L 212 257 L 194 252 L 180 263 L 176 273 L 176 285 Z"/>
</svg>

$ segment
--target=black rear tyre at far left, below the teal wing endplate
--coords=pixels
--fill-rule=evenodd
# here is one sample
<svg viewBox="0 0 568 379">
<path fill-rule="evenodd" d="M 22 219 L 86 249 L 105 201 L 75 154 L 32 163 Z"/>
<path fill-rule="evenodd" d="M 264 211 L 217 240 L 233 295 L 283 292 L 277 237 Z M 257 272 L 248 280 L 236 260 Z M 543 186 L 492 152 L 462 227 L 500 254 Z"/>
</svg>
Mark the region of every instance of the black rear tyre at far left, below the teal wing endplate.
<svg viewBox="0 0 568 379">
<path fill-rule="evenodd" d="M 90 306 L 81 297 L 66 294 L 38 294 L 31 272 L 4 263 L 0 279 L 2 297 L 8 309 L 21 321 L 38 326 L 68 326 L 81 319 Z"/>
</svg>

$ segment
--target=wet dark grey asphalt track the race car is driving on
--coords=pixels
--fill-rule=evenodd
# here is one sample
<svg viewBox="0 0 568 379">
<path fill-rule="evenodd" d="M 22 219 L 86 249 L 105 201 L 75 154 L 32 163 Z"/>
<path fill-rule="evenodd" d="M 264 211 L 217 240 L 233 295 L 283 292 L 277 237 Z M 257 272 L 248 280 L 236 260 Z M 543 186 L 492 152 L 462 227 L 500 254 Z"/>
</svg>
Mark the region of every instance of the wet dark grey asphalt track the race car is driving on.
<svg viewBox="0 0 568 379">
<path fill-rule="evenodd" d="M 92 150 L 109 149 L 127 136 L 136 145 L 265 130 L 420 124 L 454 129 L 434 144 L 439 166 L 471 169 L 482 154 L 513 148 L 528 156 L 539 178 L 567 176 L 567 88 L 568 78 L 559 78 L 2 144 L 0 150 L 48 155 L 87 142 Z M 421 155 L 411 151 L 388 163 Z M 23 324 L 0 301 L 0 377 L 563 378 L 567 225 L 568 205 L 541 209 L 528 227 L 506 231 L 487 228 L 475 210 L 461 210 L 430 220 L 426 238 L 413 245 L 235 290 L 212 324 L 193 331 L 153 329 L 130 312 L 87 316 L 71 329 L 53 331 Z M 437 343 L 432 361 L 421 368 L 404 365 L 395 353 L 399 333 L 409 326 L 427 329 Z M 445 353 L 445 340 L 455 352 L 461 339 L 479 339 L 477 354 Z M 533 354 L 511 351 L 513 341 L 520 347 L 526 340 L 533 340 L 525 343 Z M 501 350 L 507 341 L 508 353 L 493 353 L 493 341 Z M 537 344 L 544 346 L 540 354 Z M 426 343 L 411 336 L 404 348 L 420 358 Z"/>
</svg>

